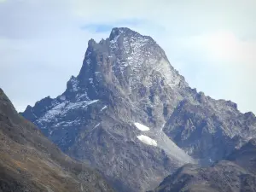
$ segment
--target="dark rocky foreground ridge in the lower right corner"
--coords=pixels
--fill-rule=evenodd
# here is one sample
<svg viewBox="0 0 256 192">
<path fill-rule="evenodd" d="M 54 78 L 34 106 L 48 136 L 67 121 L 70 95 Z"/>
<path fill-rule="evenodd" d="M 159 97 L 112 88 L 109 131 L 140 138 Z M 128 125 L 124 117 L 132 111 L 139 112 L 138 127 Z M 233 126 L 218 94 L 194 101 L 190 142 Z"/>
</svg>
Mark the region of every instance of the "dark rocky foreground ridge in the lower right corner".
<svg viewBox="0 0 256 192">
<path fill-rule="evenodd" d="M 166 177 L 154 192 L 256 191 L 255 140 L 209 168 L 188 164 Z"/>
</svg>

